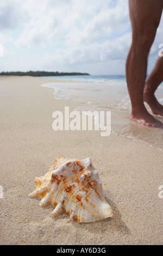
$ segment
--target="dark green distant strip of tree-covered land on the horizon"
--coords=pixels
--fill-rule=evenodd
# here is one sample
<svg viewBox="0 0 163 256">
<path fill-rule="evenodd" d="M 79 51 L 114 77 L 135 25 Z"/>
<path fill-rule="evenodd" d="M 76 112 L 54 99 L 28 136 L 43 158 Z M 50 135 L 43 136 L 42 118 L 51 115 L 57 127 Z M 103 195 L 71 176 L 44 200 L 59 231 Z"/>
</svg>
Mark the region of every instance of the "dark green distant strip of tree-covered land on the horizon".
<svg viewBox="0 0 163 256">
<path fill-rule="evenodd" d="M 79 72 L 48 72 L 48 71 L 27 71 L 27 72 L 1 72 L 0 76 L 89 76 L 87 73 Z"/>
</svg>

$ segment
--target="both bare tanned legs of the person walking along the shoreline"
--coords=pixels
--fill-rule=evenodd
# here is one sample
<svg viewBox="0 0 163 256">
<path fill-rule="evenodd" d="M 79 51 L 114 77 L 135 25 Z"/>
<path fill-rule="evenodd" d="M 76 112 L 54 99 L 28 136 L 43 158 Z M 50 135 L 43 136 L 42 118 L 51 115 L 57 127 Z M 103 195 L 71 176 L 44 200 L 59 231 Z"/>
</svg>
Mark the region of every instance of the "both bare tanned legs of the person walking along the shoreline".
<svg viewBox="0 0 163 256">
<path fill-rule="evenodd" d="M 144 101 L 154 114 L 163 116 L 163 106 L 154 95 L 163 81 L 163 57 L 158 57 L 146 81 L 148 54 L 160 23 L 162 9 L 163 0 L 129 0 L 133 37 L 126 62 L 127 86 L 132 107 L 130 120 L 160 128 L 163 128 L 163 124 L 149 114 Z"/>
</svg>

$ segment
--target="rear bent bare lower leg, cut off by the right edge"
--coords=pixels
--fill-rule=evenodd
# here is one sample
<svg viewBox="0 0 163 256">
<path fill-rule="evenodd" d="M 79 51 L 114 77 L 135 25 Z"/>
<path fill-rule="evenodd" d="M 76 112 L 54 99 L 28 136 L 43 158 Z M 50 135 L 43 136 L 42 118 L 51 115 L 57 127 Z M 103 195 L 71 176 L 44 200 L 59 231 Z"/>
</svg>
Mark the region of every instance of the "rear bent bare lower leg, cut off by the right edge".
<svg viewBox="0 0 163 256">
<path fill-rule="evenodd" d="M 151 107 L 153 114 L 163 116 L 163 106 L 158 102 L 154 93 L 163 81 L 163 57 L 158 57 L 157 62 L 149 75 L 144 89 L 144 101 Z"/>
</svg>

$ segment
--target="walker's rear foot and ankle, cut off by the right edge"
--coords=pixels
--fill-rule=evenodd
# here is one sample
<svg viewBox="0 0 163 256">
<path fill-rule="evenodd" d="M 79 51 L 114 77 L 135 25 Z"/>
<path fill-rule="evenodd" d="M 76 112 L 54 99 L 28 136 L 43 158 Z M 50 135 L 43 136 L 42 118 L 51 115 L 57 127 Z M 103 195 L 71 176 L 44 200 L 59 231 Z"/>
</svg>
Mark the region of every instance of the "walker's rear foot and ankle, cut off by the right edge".
<svg viewBox="0 0 163 256">
<path fill-rule="evenodd" d="M 153 114 L 161 115 L 163 117 L 163 106 L 158 102 L 154 94 L 145 91 L 144 102 L 146 102 L 149 105 Z"/>
</svg>

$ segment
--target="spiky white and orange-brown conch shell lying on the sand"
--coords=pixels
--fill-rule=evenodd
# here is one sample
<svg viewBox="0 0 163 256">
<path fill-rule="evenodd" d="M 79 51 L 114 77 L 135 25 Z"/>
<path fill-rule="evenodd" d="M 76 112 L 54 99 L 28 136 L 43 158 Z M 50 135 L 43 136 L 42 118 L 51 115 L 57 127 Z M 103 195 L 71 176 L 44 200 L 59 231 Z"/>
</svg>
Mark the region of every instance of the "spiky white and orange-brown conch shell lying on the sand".
<svg viewBox="0 0 163 256">
<path fill-rule="evenodd" d="M 40 206 L 52 204 L 53 217 L 66 212 L 68 220 L 94 222 L 114 216 L 90 158 L 57 157 L 49 172 L 35 178 L 35 183 L 36 190 L 29 197 L 40 197 Z"/>
</svg>

